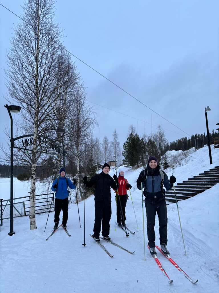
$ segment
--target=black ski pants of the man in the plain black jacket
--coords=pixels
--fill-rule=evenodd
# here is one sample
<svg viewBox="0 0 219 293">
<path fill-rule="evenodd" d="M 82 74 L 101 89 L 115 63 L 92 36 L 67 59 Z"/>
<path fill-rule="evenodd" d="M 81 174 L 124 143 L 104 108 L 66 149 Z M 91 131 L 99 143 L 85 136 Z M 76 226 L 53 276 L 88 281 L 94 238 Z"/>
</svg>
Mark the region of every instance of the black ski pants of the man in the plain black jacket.
<svg viewBox="0 0 219 293">
<path fill-rule="evenodd" d="M 102 221 L 102 236 L 109 235 L 109 221 L 112 214 L 111 201 L 98 202 L 95 201 L 95 220 L 93 232 L 95 236 L 100 236 L 101 221 Z"/>
</svg>

